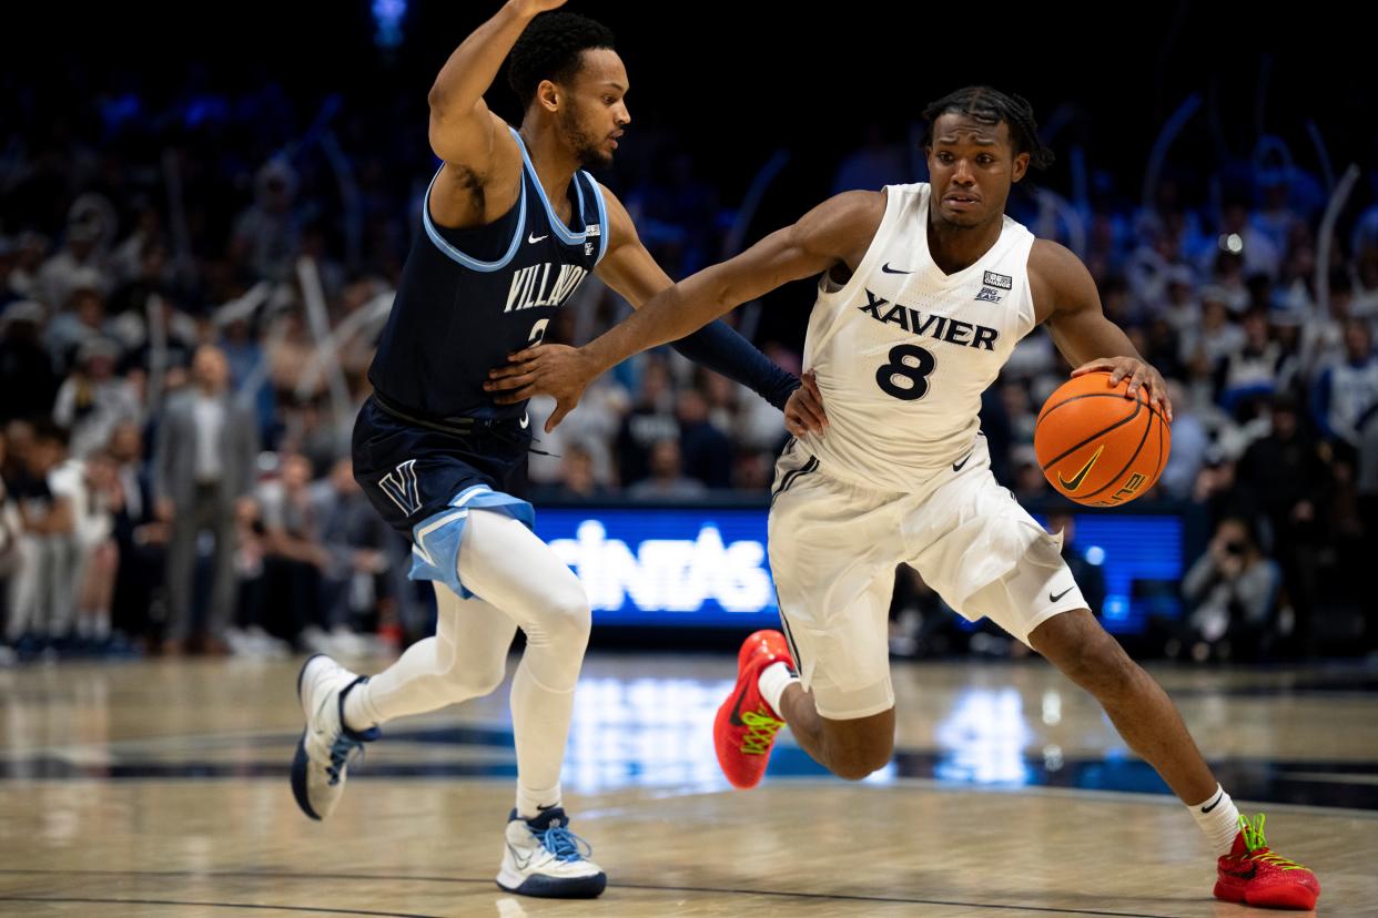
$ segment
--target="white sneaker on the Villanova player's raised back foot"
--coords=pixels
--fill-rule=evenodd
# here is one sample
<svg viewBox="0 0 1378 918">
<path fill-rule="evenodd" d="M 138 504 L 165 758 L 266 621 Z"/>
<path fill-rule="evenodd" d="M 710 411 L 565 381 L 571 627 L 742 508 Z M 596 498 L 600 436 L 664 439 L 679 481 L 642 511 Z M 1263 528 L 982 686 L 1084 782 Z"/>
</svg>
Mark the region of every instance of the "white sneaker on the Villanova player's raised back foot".
<svg viewBox="0 0 1378 918">
<path fill-rule="evenodd" d="M 344 727 L 344 694 L 368 681 L 329 657 L 317 654 L 302 665 L 296 696 L 306 714 L 306 729 L 292 758 L 292 797 L 311 819 L 325 819 L 344 793 L 350 756 L 378 739 L 378 728 L 356 732 Z"/>
</svg>

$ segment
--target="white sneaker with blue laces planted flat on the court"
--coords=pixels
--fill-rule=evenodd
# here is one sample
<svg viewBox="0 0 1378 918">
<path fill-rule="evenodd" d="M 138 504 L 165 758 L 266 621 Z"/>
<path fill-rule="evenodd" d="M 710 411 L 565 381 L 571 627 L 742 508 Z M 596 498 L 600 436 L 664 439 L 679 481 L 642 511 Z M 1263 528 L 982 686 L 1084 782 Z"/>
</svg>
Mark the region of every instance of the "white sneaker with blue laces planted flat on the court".
<svg viewBox="0 0 1378 918">
<path fill-rule="evenodd" d="M 608 875 L 588 860 L 591 853 L 588 842 L 569 831 L 564 808 L 553 807 L 531 820 L 514 809 L 497 885 L 520 896 L 594 899 L 602 895 Z"/>
</svg>

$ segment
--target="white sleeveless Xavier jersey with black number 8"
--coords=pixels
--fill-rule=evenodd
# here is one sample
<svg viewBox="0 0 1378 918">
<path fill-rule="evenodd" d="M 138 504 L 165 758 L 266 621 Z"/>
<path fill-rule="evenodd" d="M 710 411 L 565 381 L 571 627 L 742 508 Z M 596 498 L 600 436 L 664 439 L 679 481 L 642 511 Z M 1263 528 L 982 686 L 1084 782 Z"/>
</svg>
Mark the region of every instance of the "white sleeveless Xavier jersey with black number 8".
<svg viewBox="0 0 1378 918">
<path fill-rule="evenodd" d="M 827 274 L 809 317 L 805 369 L 819 374 L 828 431 L 802 438 L 830 473 L 915 491 L 971 451 L 981 392 L 1035 325 L 1034 234 L 1005 217 L 974 264 L 944 274 L 929 255 L 929 186 L 886 187 L 885 219 L 856 274 Z"/>
</svg>

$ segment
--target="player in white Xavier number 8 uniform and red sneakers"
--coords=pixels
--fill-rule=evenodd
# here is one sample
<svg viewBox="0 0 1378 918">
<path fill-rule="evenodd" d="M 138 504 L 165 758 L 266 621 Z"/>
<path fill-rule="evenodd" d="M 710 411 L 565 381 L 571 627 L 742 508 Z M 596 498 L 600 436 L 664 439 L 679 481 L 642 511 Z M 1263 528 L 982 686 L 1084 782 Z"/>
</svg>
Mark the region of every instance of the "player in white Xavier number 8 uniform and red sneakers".
<svg viewBox="0 0 1378 918">
<path fill-rule="evenodd" d="M 761 780 L 780 727 L 835 775 L 890 760 L 886 618 L 894 567 L 918 568 L 969 619 L 991 618 L 1090 691 L 1124 742 L 1186 804 L 1218 857 L 1214 893 L 1310 908 L 1315 874 L 1268 851 L 1163 690 L 1101 628 L 1049 535 L 995 483 L 981 392 L 1016 341 L 1046 323 L 1078 367 L 1130 380 L 1171 418 L 1162 376 L 1111 323 L 1068 249 L 1005 216 L 1010 186 L 1051 153 L 1029 105 L 987 87 L 930 105 L 930 183 L 839 194 L 740 256 L 657 295 L 588 345 L 533 347 L 495 370 L 507 398 L 548 392 L 553 428 L 598 373 L 787 281 L 819 275 L 805 366 L 827 428 L 785 449 L 770 508 L 770 566 L 785 634 L 739 654 L 718 712 L 729 780 Z"/>
</svg>

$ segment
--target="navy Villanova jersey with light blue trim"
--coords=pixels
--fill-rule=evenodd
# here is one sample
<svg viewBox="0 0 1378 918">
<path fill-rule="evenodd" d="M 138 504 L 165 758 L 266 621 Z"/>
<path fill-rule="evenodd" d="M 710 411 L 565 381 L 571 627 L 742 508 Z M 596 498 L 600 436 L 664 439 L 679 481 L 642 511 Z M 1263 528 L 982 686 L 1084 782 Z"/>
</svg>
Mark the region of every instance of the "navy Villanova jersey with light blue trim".
<svg viewBox="0 0 1378 918">
<path fill-rule="evenodd" d="M 496 405 L 484 391 L 488 372 L 544 336 L 608 248 L 608 208 L 593 176 L 576 172 L 569 183 L 566 227 L 521 135 L 508 131 L 522 154 L 517 202 L 488 226 L 449 230 L 431 220 L 431 179 L 422 202 L 426 231 L 402 267 L 368 372 L 383 399 L 422 417 L 522 418 L 525 403 Z"/>
</svg>

